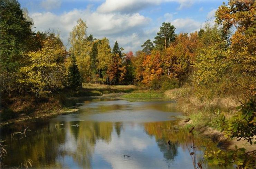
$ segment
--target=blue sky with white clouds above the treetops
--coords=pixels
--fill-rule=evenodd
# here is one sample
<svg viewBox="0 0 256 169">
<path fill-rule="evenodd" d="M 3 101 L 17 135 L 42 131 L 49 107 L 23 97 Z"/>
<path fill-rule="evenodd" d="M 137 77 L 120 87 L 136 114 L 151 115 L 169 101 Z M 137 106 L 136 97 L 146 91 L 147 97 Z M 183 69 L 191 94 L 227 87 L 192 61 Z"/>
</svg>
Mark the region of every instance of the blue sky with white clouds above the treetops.
<svg viewBox="0 0 256 169">
<path fill-rule="evenodd" d="M 82 18 L 87 34 L 115 41 L 124 52 L 141 50 L 147 39 L 154 40 L 162 22 L 171 22 L 176 33 L 190 33 L 215 14 L 227 0 L 18 0 L 27 8 L 35 31 L 59 32 L 68 46 L 69 32 Z M 227 3 L 227 2 L 226 2 Z"/>
</svg>

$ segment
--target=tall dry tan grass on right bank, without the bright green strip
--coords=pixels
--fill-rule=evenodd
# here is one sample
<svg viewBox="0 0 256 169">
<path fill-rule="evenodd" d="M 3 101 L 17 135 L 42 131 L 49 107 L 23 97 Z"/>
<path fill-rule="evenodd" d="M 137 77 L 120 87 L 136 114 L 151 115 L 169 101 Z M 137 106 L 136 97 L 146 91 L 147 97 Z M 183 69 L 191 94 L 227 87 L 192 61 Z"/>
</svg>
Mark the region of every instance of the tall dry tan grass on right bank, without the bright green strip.
<svg viewBox="0 0 256 169">
<path fill-rule="evenodd" d="M 164 97 L 177 100 L 178 109 L 191 119 L 190 125 L 206 125 L 218 130 L 221 129 L 222 118 L 231 117 L 239 105 L 232 96 L 199 99 L 189 87 L 167 90 Z"/>
</svg>

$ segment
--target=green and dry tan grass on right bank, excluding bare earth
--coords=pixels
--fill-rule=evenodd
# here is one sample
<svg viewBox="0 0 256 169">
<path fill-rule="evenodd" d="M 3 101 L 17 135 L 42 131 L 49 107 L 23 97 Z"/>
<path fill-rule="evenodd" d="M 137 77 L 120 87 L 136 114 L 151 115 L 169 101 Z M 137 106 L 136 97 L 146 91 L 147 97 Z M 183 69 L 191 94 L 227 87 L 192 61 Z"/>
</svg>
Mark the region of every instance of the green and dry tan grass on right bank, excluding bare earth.
<svg viewBox="0 0 256 169">
<path fill-rule="evenodd" d="M 200 99 L 194 96 L 190 88 L 176 88 L 165 92 L 155 90 L 136 90 L 121 96 L 131 102 L 174 100 L 178 104 L 178 110 L 183 112 L 193 122 L 191 125 L 207 125 L 221 130 L 222 118 L 231 117 L 240 102 L 235 97 L 215 97 L 212 99 Z"/>
</svg>

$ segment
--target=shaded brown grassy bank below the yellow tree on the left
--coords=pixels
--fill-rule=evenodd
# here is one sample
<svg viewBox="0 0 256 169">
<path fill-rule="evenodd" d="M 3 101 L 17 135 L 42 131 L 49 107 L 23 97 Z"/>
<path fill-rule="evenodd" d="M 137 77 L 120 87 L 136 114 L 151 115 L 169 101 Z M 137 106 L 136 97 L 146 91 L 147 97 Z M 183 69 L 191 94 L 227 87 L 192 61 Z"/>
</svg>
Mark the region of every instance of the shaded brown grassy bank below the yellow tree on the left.
<svg viewBox="0 0 256 169">
<path fill-rule="evenodd" d="M 6 125 L 22 120 L 46 118 L 54 115 L 77 111 L 73 99 L 65 94 L 53 94 L 48 97 L 16 96 L 4 100 L 5 107 L 1 109 L 0 125 Z"/>
</svg>

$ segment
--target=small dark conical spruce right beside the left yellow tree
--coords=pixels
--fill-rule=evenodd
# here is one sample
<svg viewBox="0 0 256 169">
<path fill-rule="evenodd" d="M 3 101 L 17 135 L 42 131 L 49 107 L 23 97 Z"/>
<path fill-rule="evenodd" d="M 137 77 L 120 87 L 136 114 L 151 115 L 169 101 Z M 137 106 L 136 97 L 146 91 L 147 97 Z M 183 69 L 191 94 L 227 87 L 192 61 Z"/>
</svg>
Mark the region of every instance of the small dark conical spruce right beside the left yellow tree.
<svg viewBox="0 0 256 169">
<path fill-rule="evenodd" d="M 76 57 L 71 55 L 72 64 L 68 68 L 68 86 L 70 88 L 82 87 L 81 75 L 76 64 Z"/>
</svg>

